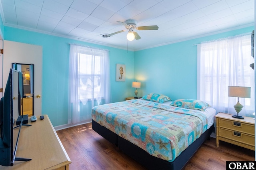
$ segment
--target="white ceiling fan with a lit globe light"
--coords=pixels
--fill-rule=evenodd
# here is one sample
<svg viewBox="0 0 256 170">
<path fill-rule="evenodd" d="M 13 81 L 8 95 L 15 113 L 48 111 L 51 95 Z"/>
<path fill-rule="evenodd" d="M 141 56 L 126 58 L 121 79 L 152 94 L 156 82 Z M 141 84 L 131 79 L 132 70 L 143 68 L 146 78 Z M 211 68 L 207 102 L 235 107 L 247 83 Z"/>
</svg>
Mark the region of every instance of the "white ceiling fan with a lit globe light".
<svg viewBox="0 0 256 170">
<path fill-rule="evenodd" d="M 112 35 L 118 34 L 118 33 L 122 33 L 126 30 L 128 30 L 128 34 L 127 34 L 127 39 L 129 41 L 132 41 L 135 39 L 140 39 L 140 35 L 138 35 L 138 33 L 136 31 L 134 31 L 135 29 L 137 30 L 158 30 L 158 26 L 157 25 L 150 25 L 150 26 L 141 26 L 141 27 L 137 27 L 137 22 L 135 20 L 126 20 L 124 22 L 121 21 L 117 21 L 118 23 L 121 23 L 122 25 L 124 25 L 126 27 L 126 29 L 121 30 L 121 31 L 117 31 L 111 34 L 103 34 L 102 37 L 104 38 L 108 38 L 111 37 Z"/>
</svg>

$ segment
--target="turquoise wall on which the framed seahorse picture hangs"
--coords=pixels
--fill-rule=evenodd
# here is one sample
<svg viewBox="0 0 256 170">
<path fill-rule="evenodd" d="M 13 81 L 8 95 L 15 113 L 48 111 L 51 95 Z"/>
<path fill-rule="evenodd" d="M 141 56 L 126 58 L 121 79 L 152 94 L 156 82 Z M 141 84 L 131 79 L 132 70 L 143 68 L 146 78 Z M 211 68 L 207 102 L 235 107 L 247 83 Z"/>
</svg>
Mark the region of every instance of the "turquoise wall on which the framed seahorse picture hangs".
<svg viewBox="0 0 256 170">
<path fill-rule="evenodd" d="M 131 86 L 134 80 L 134 53 L 131 51 L 13 27 L 4 27 L 4 39 L 42 46 L 42 114 L 48 114 L 53 126 L 68 123 L 69 43 L 108 49 L 110 56 L 111 101 L 120 102 L 125 100 L 127 96 L 133 96 L 133 88 Z M 116 64 L 126 65 L 125 82 L 116 82 Z"/>
</svg>

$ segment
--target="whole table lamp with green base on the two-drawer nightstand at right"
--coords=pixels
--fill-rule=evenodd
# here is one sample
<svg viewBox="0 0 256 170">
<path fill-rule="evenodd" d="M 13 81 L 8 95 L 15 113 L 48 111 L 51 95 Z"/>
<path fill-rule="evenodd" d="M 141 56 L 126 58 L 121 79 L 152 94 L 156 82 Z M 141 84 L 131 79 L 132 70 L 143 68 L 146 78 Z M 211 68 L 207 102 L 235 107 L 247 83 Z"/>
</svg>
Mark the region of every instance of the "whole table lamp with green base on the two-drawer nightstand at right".
<svg viewBox="0 0 256 170">
<path fill-rule="evenodd" d="M 244 119 L 244 117 L 238 115 L 243 107 L 243 105 L 239 103 L 239 98 L 251 98 L 251 88 L 241 86 L 228 86 L 228 96 L 238 97 L 237 103 L 234 105 L 237 115 L 232 115 L 232 117 Z"/>
</svg>

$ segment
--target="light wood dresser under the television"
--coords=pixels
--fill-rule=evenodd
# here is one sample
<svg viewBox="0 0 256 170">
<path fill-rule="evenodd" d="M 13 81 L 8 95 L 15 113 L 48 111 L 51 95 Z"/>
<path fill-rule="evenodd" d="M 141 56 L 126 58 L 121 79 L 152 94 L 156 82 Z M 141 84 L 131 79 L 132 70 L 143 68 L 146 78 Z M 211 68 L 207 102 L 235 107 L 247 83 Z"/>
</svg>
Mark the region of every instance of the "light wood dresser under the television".
<svg viewBox="0 0 256 170">
<path fill-rule="evenodd" d="M 29 118 L 28 124 L 32 126 L 21 128 L 16 156 L 32 160 L 15 161 L 13 166 L 0 166 L 0 170 L 68 170 L 70 158 L 48 115 L 43 120 L 37 116 L 35 122 Z M 14 129 L 14 133 L 18 130 Z"/>
</svg>

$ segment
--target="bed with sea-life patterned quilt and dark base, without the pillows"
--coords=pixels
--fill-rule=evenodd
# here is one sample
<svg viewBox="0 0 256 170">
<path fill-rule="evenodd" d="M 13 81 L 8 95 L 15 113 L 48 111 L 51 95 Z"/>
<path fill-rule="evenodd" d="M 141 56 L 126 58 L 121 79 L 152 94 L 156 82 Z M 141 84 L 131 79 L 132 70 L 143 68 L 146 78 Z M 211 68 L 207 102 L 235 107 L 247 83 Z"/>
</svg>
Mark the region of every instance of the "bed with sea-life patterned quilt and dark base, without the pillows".
<svg viewBox="0 0 256 170">
<path fill-rule="evenodd" d="M 184 169 L 214 131 L 216 110 L 127 100 L 92 108 L 92 129 L 147 169 Z"/>
</svg>

